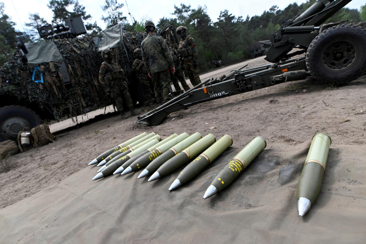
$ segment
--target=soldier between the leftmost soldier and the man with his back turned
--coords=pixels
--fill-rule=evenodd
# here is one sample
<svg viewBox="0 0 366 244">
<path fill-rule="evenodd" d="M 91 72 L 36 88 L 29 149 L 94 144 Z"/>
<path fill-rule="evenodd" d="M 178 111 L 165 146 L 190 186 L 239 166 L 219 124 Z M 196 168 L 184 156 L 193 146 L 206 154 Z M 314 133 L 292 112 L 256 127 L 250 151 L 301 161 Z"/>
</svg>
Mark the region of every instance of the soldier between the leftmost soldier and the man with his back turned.
<svg viewBox="0 0 366 244">
<path fill-rule="evenodd" d="M 143 89 L 145 90 L 145 96 L 147 99 L 147 106 L 152 106 L 152 97 L 151 97 L 151 89 L 150 89 L 150 77 L 147 74 L 147 70 L 145 67 L 145 63 L 142 61 L 142 52 L 140 48 L 136 48 L 135 51 L 136 59 L 132 64 L 132 71 L 136 73 L 138 78 L 140 78 Z"/>
</svg>

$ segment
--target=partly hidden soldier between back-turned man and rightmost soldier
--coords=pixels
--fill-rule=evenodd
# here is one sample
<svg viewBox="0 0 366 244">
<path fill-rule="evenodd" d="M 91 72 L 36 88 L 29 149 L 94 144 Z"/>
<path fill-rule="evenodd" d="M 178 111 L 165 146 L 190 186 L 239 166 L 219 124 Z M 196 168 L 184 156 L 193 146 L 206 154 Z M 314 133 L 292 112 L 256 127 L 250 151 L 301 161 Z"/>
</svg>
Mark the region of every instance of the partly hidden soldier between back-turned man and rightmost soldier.
<svg viewBox="0 0 366 244">
<path fill-rule="evenodd" d="M 169 46 L 168 40 L 165 40 L 165 42 Z M 188 91 L 190 89 L 187 82 L 186 82 L 186 78 L 184 78 L 184 74 L 183 74 L 182 70 L 180 69 L 180 64 L 182 62 L 182 56 L 180 55 L 180 53 L 177 52 L 177 50 L 175 50 L 174 48 L 171 48 L 170 46 L 169 46 L 169 51 L 170 51 L 170 54 L 173 57 L 173 62 L 174 62 L 174 66 L 175 66 L 175 74 L 173 74 L 172 71 L 171 71 L 170 72 L 170 79 L 173 82 L 173 85 L 175 87 L 175 90 L 176 90 L 177 94 L 181 94 L 182 89 L 180 89 L 178 80 L 182 84 L 184 91 Z"/>
</svg>

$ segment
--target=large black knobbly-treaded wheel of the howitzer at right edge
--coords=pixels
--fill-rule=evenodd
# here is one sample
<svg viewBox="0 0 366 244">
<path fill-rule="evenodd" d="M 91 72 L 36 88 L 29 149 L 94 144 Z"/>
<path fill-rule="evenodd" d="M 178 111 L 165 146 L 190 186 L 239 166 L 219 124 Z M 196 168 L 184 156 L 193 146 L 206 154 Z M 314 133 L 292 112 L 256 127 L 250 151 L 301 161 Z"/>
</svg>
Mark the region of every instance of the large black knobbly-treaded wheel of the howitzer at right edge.
<svg viewBox="0 0 366 244">
<path fill-rule="evenodd" d="M 324 83 L 345 84 L 366 71 L 366 30 L 333 26 L 317 35 L 306 52 L 311 75 Z"/>
</svg>

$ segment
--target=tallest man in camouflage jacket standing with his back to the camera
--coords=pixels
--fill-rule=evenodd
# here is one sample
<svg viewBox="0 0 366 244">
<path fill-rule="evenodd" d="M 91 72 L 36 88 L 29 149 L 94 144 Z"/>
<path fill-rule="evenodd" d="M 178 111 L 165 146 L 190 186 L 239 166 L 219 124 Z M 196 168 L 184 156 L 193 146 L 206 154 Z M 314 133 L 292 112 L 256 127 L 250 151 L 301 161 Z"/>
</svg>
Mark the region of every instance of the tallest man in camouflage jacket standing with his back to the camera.
<svg viewBox="0 0 366 244">
<path fill-rule="evenodd" d="M 153 79 L 156 102 L 159 104 L 169 101 L 169 70 L 172 70 L 174 74 L 175 67 L 167 44 L 162 37 L 155 34 L 155 29 L 153 22 L 146 22 L 147 37 L 141 42 L 141 49 L 146 70 Z M 160 84 L 163 85 L 163 96 Z"/>
</svg>

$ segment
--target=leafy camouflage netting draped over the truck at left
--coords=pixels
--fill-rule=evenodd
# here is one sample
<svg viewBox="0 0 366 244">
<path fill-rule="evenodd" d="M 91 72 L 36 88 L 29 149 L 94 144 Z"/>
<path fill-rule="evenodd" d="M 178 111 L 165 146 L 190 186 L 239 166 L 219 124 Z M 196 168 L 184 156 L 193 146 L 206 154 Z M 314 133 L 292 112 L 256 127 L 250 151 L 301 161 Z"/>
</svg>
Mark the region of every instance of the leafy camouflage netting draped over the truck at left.
<svg viewBox="0 0 366 244">
<path fill-rule="evenodd" d="M 138 84 L 128 74 L 134 60 L 133 51 L 140 47 L 143 34 L 124 31 L 123 40 L 124 45 L 115 48 L 114 52 L 117 62 L 130 80 L 129 87 L 133 90 Z M 20 50 L 16 50 L 12 59 L 0 68 L 0 95 L 14 98 L 14 104 L 33 105 L 41 111 L 49 111 L 57 121 L 110 105 L 112 101 L 105 95 L 98 81 L 102 59 L 93 38 L 84 36 L 53 42 L 64 59 L 71 84 L 64 84 L 57 63 L 23 64 Z M 32 80 L 35 67 L 40 68 L 44 83 Z M 36 71 L 34 80 L 41 79 L 40 71 Z"/>
</svg>

